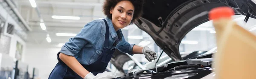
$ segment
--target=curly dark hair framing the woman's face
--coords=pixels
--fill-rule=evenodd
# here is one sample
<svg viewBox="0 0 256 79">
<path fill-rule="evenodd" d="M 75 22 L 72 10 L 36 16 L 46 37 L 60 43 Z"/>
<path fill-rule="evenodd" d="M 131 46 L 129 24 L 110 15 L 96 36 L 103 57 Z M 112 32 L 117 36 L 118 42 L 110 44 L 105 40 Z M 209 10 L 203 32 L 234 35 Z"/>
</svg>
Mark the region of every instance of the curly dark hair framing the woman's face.
<svg viewBox="0 0 256 79">
<path fill-rule="evenodd" d="M 114 8 L 116 6 L 117 3 L 121 2 L 122 0 L 105 0 L 102 10 L 104 12 L 104 14 L 111 18 L 112 14 L 110 14 L 109 12 L 111 11 L 111 8 Z M 134 23 L 134 20 L 137 20 L 139 17 L 142 16 L 143 14 L 143 4 L 144 4 L 144 0 L 128 0 L 130 1 L 133 6 L 134 6 L 134 16 L 133 16 L 133 20 L 131 20 L 131 23 Z"/>
</svg>

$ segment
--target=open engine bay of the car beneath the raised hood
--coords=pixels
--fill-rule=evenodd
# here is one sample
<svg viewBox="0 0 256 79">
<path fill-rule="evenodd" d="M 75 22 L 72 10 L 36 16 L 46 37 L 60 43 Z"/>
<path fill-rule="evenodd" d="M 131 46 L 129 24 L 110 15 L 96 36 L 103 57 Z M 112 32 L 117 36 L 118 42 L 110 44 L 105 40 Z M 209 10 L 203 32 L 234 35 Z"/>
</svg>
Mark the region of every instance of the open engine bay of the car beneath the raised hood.
<svg viewBox="0 0 256 79">
<path fill-rule="evenodd" d="M 212 73 L 212 54 L 198 56 L 196 59 L 187 59 L 171 62 L 155 68 L 126 73 L 116 79 L 200 79 Z"/>
</svg>

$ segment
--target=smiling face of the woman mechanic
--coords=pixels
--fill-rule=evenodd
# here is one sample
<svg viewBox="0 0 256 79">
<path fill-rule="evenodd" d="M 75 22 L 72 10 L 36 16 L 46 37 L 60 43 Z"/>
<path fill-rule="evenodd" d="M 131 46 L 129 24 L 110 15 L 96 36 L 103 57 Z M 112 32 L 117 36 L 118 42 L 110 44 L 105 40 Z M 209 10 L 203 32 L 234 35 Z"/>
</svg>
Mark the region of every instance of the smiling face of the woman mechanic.
<svg viewBox="0 0 256 79">
<path fill-rule="evenodd" d="M 131 23 L 134 15 L 134 6 L 128 0 L 120 1 L 114 8 L 111 8 L 110 14 L 112 14 L 112 23 L 117 31 L 119 28 L 125 28 L 125 26 Z"/>
</svg>

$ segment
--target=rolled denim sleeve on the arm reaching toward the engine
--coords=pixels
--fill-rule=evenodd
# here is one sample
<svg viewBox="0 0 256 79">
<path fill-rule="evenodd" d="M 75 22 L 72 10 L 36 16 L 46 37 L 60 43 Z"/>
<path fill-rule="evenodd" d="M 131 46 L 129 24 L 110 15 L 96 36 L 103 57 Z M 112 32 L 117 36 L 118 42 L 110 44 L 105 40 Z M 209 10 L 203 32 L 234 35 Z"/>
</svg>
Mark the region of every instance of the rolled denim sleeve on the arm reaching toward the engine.
<svg viewBox="0 0 256 79">
<path fill-rule="evenodd" d="M 135 44 L 128 43 L 124 37 L 122 37 L 122 40 L 118 43 L 117 49 L 123 53 L 128 53 L 129 55 L 133 55 L 133 47 Z"/>
</svg>

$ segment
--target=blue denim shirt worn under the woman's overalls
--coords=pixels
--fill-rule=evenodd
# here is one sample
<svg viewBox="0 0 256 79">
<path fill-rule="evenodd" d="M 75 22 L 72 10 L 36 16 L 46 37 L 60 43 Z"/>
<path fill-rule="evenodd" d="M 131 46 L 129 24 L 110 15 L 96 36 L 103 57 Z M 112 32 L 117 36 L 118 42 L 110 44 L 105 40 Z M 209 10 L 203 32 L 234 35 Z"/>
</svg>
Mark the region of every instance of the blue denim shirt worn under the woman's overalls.
<svg viewBox="0 0 256 79">
<path fill-rule="evenodd" d="M 121 29 L 115 31 L 110 18 L 105 17 L 109 26 L 109 49 L 118 49 L 122 53 L 132 54 L 135 44 L 128 43 L 123 37 Z M 61 53 L 74 56 L 80 64 L 90 65 L 95 62 L 104 48 L 106 25 L 102 19 L 87 23 L 84 28 L 73 38 L 70 38 L 61 47 Z"/>
</svg>

